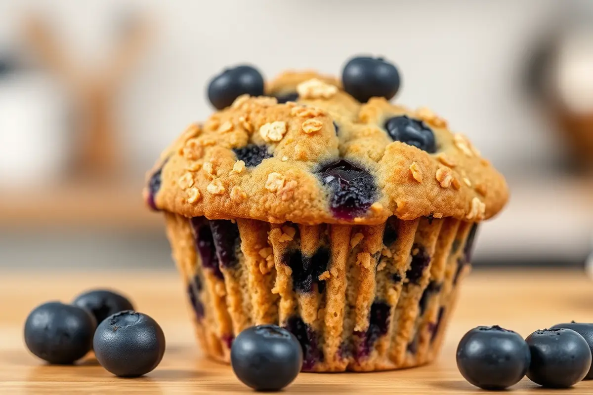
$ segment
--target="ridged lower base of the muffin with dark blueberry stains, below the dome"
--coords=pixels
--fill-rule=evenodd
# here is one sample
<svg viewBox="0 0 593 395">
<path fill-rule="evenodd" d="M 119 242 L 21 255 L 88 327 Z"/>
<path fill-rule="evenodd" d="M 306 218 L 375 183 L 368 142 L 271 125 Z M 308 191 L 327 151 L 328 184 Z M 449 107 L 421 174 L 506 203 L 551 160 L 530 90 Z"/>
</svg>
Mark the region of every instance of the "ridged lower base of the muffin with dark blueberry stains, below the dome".
<svg viewBox="0 0 593 395">
<path fill-rule="evenodd" d="M 302 370 L 316 372 L 435 359 L 476 231 L 457 219 L 307 226 L 165 218 L 205 354 L 228 363 L 241 330 L 274 323 L 301 342 Z"/>
</svg>

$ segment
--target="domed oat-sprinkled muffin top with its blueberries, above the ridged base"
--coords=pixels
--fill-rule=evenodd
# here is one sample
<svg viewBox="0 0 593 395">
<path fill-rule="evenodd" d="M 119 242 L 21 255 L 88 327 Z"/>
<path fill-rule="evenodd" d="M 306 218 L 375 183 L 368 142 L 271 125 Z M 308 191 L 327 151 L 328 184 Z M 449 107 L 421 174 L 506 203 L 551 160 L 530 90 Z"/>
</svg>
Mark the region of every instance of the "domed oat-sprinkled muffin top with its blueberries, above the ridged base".
<svg viewBox="0 0 593 395">
<path fill-rule="evenodd" d="M 362 63 L 362 78 L 372 79 Z M 263 95 L 238 97 L 228 81 L 212 88 L 221 76 L 247 81 L 245 70 L 226 70 L 231 76 L 213 80 L 209 96 L 216 107 L 232 104 L 162 153 L 148 174 L 148 204 L 187 217 L 301 224 L 477 222 L 502 209 L 505 179 L 466 136 L 427 108 L 388 101 L 399 85 L 393 66 L 380 77 L 386 82 L 357 85 L 360 67 L 349 65 L 342 81 L 312 71 L 285 72 L 265 86 L 255 78 L 245 91 Z"/>
</svg>

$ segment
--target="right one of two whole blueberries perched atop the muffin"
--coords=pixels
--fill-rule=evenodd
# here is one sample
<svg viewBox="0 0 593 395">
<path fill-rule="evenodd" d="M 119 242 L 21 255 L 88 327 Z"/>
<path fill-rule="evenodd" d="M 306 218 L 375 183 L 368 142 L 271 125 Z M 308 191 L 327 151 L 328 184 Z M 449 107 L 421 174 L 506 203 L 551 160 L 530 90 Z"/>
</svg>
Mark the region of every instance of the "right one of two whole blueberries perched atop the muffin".
<svg viewBox="0 0 593 395">
<path fill-rule="evenodd" d="M 396 66 L 382 57 L 354 57 L 342 71 L 344 90 L 359 102 L 372 97 L 389 100 L 400 88 L 400 73 Z"/>
</svg>

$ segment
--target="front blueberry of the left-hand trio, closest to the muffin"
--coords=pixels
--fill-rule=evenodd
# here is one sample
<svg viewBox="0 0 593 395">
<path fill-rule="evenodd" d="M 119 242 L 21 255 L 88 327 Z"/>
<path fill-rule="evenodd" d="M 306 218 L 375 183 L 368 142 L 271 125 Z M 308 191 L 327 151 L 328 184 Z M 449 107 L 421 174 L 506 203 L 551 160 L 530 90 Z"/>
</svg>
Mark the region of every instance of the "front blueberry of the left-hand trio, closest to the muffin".
<svg viewBox="0 0 593 395">
<path fill-rule="evenodd" d="M 102 367 L 120 377 L 138 377 L 157 367 L 165 353 L 165 335 L 146 314 L 126 310 L 107 317 L 93 339 Z"/>
</svg>

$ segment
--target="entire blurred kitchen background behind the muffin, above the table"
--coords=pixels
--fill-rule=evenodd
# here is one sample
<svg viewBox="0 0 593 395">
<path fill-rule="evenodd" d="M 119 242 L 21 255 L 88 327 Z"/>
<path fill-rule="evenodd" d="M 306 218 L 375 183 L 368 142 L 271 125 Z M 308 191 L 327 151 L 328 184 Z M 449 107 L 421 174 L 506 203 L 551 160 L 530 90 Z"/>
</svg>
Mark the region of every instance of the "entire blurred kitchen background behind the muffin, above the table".
<svg viewBox="0 0 593 395">
<path fill-rule="evenodd" d="M 511 186 L 476 265 L 593 249 L 593 1 L 0 0 L 0 267 L 172 267 L 144 174 L 227 65 L 395 62 Z"/>
</svg>

